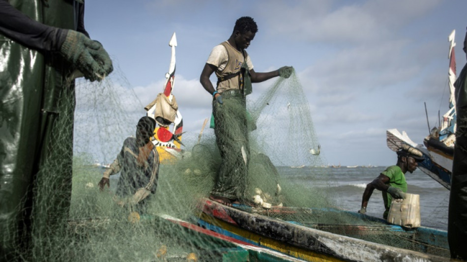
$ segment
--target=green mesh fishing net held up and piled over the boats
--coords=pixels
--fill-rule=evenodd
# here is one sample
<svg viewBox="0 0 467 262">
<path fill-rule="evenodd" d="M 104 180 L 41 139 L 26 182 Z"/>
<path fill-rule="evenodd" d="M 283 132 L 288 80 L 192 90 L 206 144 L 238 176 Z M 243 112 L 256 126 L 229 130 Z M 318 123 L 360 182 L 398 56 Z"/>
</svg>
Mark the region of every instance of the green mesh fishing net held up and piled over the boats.
<svg viewBox="0 0 467 262">
<path fill-rule="evenodd" d="M 138 119 L 146 115 L 122 75 L 116 69 L 100 83 L 77 81 L 74 119 L 62 117 L 57 122 L 53 153 L 37 176 L 32 249 L 18 247 L 18 256 L 33 261 L 222 261 L 226 250 L 241 256 L 233 244 L 167 220 L 172 217 L 196 224 L 200 202 L 211 194 L 219 167 L 239 153 L 230 152 L 223 159 L 212 129 L 206 128 L 203 136 L 197 132 L 183 135 L 184 146 L 175 161 L 161 163 L 157 190 L 146 203 L 146 212 L 135 213 L 131 205 L 116 204 L 118 174 L 111 176 L 110 188 L 99 190 L 97 182 L 105 169 L 96 166 L 94 159 L 111 163 L 125 138 L 134 136 Z M 174 95 L 182 90 L 177 87 Z M 246 104 L 246 111 L 232 106 L 229 114 L 248 118 L 246 132 L 235 129 L 236 120 L 226 119 L 223 124 L 234 130 L 233 137 L 248 137 L 249 152 L 239 153 L 248 170 L 232 182 L 243 189 L 241 201 L 253 205 L 249 212 L 341 234 L 349 233 L 343 225 L 375 224 L 371 236 L 360 237 L 409 247 L 411 242 L 403 234 L 377 228 L 376 222 L 362 216 L 326 212 L 346 207 L 340 206 L 339 193 L 332 190 L 337 178 L 324 167 L 308 102 L 294 73 L 274 82 L 256 99 L 248 97 Z M 72 105 L 60 106 L 73 110 Z M 183 113 L 183 105 L 179 107 Z M 70 128 L 73 121 L 74 128 Z M 61 146 L 68 145 L 72 137 L 73 150 Z M 302 168 L 307 170 L 303 175 L 309 184 L 290 182 L 288 175 Z M 67 175 L 71 171 L 72 181 Z M 290 212 L 269 212 L 268 204 Z"/>
</svg>

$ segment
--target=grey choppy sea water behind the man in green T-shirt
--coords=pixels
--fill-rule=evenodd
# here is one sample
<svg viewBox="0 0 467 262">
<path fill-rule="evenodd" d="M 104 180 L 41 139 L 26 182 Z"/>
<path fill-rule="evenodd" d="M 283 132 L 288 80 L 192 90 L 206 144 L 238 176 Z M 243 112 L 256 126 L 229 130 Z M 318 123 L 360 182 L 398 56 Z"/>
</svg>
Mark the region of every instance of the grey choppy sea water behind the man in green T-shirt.
<svg viewBox="0 0 467 262">
<path fill-rule="evenodd" d="M 365 187 L 375 179 L 386 167 L 356 167 L 356 168 L 317 168 L 279 167 L 282 179 L 313 187 L 326 186 L 335 192 L 339 206 L 345 210 L 358 211 L 361 207 L 362 195 Z M 317 176 L 310 175 L 319 172 Z M 311 178 L 313 177 L 313 178 Z M 424 227 L 447 230 L 447 213 L 449 206 L 449 190 L 441 186 L 433 178 L 420 170 L 412 174 L 406 173 L 408 193 L 420 195 L 421 225 Z M 367 215 L 380 217 L 384 212 L 381 191 L 374 190 L 368 202 Z"/>
</svg>

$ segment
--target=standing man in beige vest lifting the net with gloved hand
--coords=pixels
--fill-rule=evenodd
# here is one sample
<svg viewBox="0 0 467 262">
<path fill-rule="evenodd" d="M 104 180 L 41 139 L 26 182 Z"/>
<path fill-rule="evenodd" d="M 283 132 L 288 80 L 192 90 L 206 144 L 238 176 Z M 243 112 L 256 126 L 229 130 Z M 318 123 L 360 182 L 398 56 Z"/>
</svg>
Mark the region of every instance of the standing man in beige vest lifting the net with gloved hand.
<svg viewBox="0 0 467 262">
<path fill-rule="evenodd" d="M 213 97 L 214 133 L 222 157 L 209 198 L 221 204 L 231 205 L 245 200 L 250 158 L 245 96 L 252 91 L 251 83 L 277 76 L 288 78 L 293 70 L 283 66 L 271 72 L 255 72 L 245 49 L 257 31 L 253 18 L 239 18 L 230 38 L 212 49 L 200 77 L 204 89 Z M 215 89 L 209 80 L 214 72 L 217 76 Z"/>
</svg>

